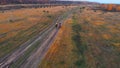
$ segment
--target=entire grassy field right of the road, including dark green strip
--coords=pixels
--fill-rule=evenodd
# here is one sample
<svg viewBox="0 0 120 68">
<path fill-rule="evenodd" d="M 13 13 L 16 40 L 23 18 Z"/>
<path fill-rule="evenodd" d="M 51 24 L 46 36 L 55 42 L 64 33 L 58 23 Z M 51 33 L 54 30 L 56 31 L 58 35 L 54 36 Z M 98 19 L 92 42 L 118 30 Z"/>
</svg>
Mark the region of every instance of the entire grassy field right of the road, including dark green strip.
<svg viewBox="0 0 120 68">
<path fill-rule="evenodd" d="M 74 13 L 39 68 L 120 68 L 119 13 L 86 9 Z"/>
</svg>

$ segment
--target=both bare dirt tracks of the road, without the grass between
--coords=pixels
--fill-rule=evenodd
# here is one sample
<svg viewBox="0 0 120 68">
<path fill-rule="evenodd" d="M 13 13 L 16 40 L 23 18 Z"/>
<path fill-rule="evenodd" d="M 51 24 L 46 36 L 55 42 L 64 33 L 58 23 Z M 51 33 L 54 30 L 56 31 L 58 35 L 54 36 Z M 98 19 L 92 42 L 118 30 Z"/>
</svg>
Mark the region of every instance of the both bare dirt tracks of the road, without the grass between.
<svg viewBox="0 0 120 68">
<path fill-rule="evenodd" d="M 69 11 L 66 13 L 66 18 L 70 16 L 73 11 Z M 65 18 L 61 16 L 56 22 L 63 22 Z M 26 43 L 21 45 L 18 49 L 13 51 L 11 54 L 5 56 L 2 60 L 0 60 L 0 68 L 9 68 L 11 64 L 13 64 L 16 60 L 18 60 L 24 53 L 31 47 L 34 46 L 39 41 L 42 41 L 39 48 L 35 52 L 33 52 L 29 58 L 27 58 L 26 62 L 21 65 L 21 68 L 37 68 L 39 62 L 44 57 L 46 51 L 50 47 L 50 44 L 54 40 L 59 29 L 55 28 L 55 23 L 53 23 L 50 27 L 42 31 L 39 35 L 35 36 L 33 39 L 28 40 Z M 34 63 L 33 63 L 34 62 Z"/>
</svg>

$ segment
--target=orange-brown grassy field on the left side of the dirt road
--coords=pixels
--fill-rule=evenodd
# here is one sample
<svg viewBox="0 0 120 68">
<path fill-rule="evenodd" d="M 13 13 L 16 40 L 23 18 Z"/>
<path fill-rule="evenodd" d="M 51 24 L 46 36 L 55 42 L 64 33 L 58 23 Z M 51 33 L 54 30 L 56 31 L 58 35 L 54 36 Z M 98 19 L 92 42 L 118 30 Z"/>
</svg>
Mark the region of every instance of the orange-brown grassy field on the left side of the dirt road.
<svg viewBox="0 0 120 68">
<path fill-rule="evenodd" d="M 31 39 L 73 6 L 0 12 L 0 57 Z"/>
</svg>

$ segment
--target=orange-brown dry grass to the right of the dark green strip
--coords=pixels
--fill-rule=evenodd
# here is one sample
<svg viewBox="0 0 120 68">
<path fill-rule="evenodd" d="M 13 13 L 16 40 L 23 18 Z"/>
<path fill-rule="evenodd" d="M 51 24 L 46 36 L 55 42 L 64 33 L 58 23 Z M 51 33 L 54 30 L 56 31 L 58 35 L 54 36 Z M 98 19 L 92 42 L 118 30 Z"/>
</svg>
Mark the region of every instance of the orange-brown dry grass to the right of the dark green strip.
<svg viewBox="0 0 120 68">
<path fill-rule="evenodd" d="M 83 29 L 81 36 L 88 44 L 85 53 L 87 68 L 120 67 L 120 20 L 117 14 L 119 12 L 103 14 L 92 10 L 80 14 L 79 19 L 84 19 L 79 20 Z"/>
</svg>

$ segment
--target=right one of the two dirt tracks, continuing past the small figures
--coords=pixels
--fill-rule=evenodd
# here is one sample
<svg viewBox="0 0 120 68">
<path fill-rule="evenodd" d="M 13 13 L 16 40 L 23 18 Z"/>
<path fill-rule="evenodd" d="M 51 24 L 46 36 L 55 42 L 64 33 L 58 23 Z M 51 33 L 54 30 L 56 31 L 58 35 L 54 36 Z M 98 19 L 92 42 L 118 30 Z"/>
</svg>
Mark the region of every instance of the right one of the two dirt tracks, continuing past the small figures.
<svg viewBox="0 0 120 68">
<path fill-rule="evenodd" d="M 71 13 L 65 19 L 59 21 L 59 23 L 63 23 L 64 20 L 66 20 L 70 16 L 71 16 Z M 41 46 L 37 49 L 37 51 L 32 53 L 31 56 L 27 59 L 27 61 L 23 65 L 21 65 L 20 68 L 38 68 L 39 63 L 41 62 L 43 57 L 46 55 L 58 31 L 59 31 L 59 28 L 53 29 L 49 34 L 49 36 L 46 39 L 44 39 L 45 41 L 41 44 Z"/>
</svg>

